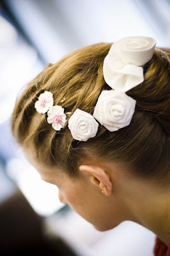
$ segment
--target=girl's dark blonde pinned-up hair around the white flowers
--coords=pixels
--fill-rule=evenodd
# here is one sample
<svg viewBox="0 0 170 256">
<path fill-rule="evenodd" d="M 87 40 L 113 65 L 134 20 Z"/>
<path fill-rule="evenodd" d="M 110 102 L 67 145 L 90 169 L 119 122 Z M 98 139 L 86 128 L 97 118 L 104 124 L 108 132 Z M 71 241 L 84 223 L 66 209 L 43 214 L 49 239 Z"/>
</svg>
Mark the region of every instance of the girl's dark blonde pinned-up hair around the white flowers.
<svg viewBox="0 0 170 256">
<path fill-rule="evenodd" d="M 144 65 L 144 81 L 126 94 L 136 100 L 130 125 L 116 132 L 98 126 L 88 141 L 72 138 L 69 117 L 75 109 L 91 115 L 102 90 L 111 90 L 104 81 L 103 62 L 112 43 L 88 45 L 70 52 L 53 65 L 49 63 L 26 84 L 12 114 L 12 134 L 22 147 L 33 145 L 38 160 L 60 166 L 75 179 L 81 159 L 103 159 L 125 166 L 137 177 L 157 184 L 170 179 L 170 61 L 169 54 L 155 48 L 153 58 Z M 53 93 L 54 105 L 65 108 L 65 127 L 60 131 L 47 123 L 35 102 L 45 90 Z M 61 100 L 65 97 L 65 101 Z"/>
</svg>

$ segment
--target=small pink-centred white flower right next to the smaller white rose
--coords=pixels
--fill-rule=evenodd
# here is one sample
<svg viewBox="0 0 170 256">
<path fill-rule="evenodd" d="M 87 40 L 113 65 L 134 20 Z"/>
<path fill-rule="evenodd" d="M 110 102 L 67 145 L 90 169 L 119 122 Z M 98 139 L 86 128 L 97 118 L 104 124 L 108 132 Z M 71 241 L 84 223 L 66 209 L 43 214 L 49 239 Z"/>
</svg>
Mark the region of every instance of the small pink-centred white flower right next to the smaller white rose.
<svg viewBox="0 0 170 256">
<path fill-rule="evenodd" d="M 49 124 L 52 124 L 52 128 L 54 128 L 56 131 L 61 130 L 61 128 L 64 127 L 66 122 L 66 115 L 64 113 L 64 108 L 61 106 L 52 106 L 52 108 L 49 109 L 47 112 L 47 122 Z"/>
</svg>

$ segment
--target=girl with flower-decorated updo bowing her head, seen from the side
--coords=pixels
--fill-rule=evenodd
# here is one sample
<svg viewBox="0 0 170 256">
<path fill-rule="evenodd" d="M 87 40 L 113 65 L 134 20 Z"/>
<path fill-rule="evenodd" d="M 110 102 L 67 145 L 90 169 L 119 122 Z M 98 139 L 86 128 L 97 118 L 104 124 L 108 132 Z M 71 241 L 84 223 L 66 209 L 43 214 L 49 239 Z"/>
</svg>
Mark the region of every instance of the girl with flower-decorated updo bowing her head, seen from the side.
<svg viewBox="0 0 170 256">
<path fill-rule="evenodd" d="M 18 97 L 12 134 L 61 202 L 100 231 L 143 225 L 160 256 L 170 255 L 170 61 L 154 42 L 131 36 L 49 63 Z"/>
</svg>

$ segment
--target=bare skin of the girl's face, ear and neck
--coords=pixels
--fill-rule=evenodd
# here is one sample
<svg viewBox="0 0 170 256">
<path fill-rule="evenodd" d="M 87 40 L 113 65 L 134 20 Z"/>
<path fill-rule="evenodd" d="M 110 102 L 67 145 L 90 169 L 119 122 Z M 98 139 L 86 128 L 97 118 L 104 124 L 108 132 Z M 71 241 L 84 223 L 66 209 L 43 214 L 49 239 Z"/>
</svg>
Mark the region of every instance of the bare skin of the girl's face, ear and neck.
<svg viewBox="0 0 170 256">
<path fill-rule="evenodd" d="M 169 188 L 158 188 L 116 164 L 95 159 L 80 161 L 80 177 L 73 181 L 63 170 L 39 163 L 33 148 L 24 148 L 23 152 L 43 180 L 58 186 L 59 200 L 97 230 L 109 230 L 130 220 L 148 228 L 168 245 Z M 105 194 L 101 193 L 102 190 Z"/>
</svg>

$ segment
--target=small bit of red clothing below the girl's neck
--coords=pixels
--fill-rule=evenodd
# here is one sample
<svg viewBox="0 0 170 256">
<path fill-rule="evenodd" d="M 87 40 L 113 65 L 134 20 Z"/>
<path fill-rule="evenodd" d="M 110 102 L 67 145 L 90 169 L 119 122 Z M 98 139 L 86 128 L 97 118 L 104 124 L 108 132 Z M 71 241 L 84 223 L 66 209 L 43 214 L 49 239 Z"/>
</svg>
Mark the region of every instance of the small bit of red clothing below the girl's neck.
<svg viewBox="0 0 170 256">
<path fill-rule="evenodd" d="M 154 256 L 170 256 L 170 237 L 168 246 L 158 238 L 155 239 L 155 246 L 153 248 Z"/>
</svg>

